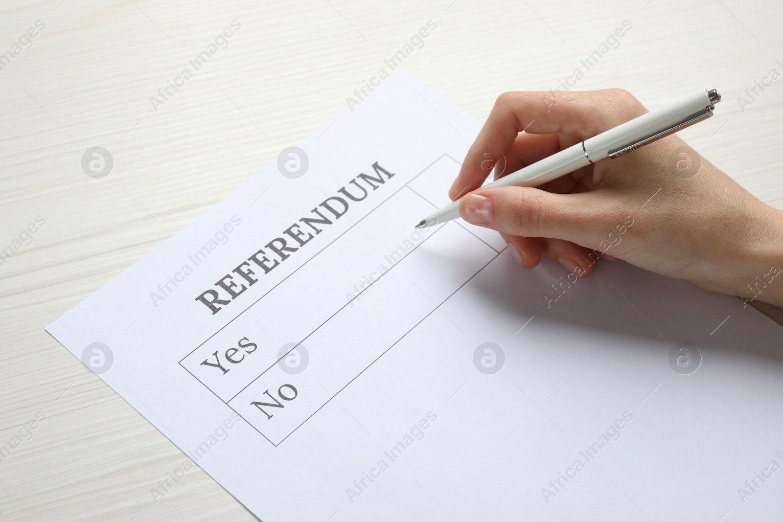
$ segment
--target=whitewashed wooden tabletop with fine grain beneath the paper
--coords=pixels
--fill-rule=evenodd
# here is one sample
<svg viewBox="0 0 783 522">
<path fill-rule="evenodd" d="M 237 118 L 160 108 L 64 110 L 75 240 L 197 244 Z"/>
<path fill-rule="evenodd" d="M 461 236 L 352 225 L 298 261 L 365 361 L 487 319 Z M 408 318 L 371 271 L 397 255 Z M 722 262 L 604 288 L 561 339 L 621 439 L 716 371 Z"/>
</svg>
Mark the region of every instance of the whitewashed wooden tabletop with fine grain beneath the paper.
<svg viewBox="0 0 783 522">
<path fill-rule="evenodd" d="M 186 456 L 44 327 L 281 149 L 339 125 L 346 97 L 428 20 L 437 29 L 402 67 L 480 120 L 500 92 L 556 87 L 630 20 L 576 88 L 622 87 L 648 106 L 720 88 L 716 117 L 684 139 L 783 207 L 783 79 L 745 110 L 737 100 L 783 69 L 775 0 L 9 0 L 0 12 L 0 53 L 45 23 L 0 70 L 0 249 L 45 219 L 0 266 L 0 445 L 45 415 L 0 463 L 2 520 L 254 520 L 198 468 L 153 500 Z M 227 47 L 153 107 L 233 20 Z M 114 157 L 106 178 L 81 170 L 93 146 Z"/>
</svg>

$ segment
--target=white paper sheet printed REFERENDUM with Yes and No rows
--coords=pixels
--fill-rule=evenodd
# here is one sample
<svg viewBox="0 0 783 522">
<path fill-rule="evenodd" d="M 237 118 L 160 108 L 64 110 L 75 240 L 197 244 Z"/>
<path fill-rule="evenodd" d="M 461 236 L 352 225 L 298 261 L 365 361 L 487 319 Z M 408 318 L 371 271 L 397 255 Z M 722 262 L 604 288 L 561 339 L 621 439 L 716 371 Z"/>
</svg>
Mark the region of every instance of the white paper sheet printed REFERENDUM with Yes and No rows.
<svg viewBox="0 0 783 522">
<path fill-rule="evenodd" d="M 479 128 L 397 74 L 47 330 L 265 522 L 778 516 L 780 326 L 414 230 Z"/>
</svg>

